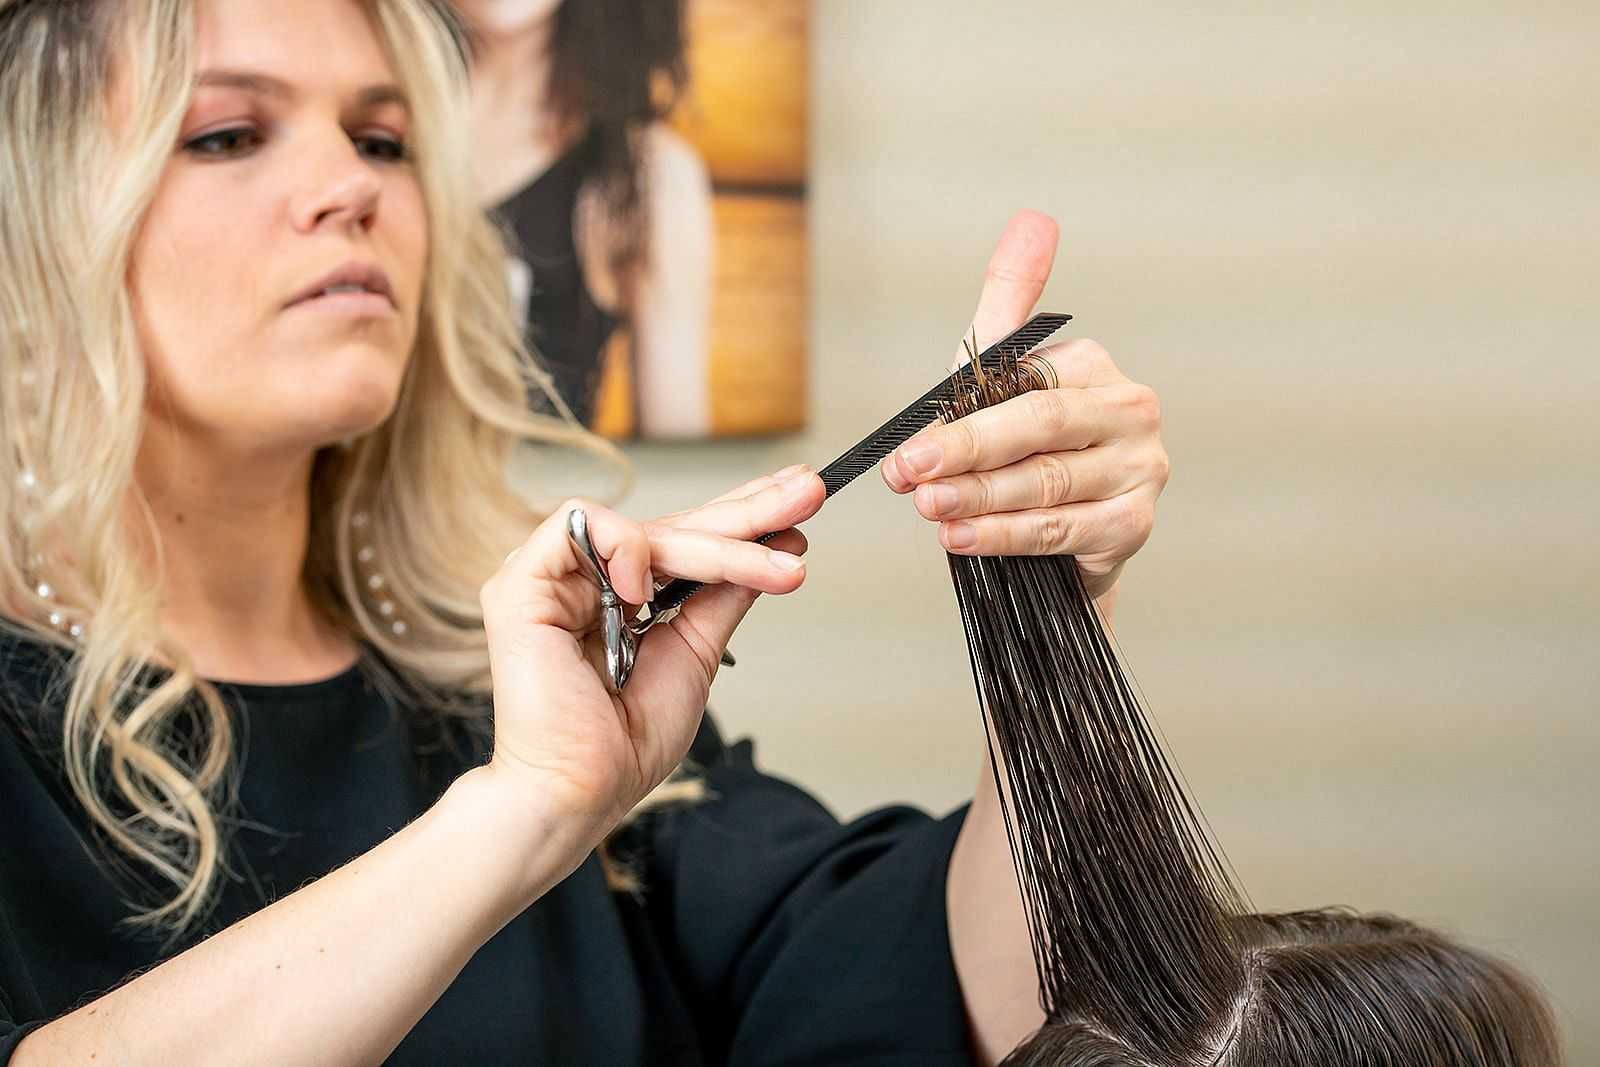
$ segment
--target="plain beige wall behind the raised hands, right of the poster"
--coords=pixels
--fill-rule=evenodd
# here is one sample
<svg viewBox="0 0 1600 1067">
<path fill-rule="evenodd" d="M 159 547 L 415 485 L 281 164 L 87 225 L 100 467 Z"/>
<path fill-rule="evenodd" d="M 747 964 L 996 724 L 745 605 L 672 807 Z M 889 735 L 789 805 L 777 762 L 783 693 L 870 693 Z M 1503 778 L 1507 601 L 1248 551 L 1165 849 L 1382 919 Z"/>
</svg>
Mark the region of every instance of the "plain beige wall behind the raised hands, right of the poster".
<svg viewBox="0 0 1600 1067">
<path fill-rule="evenodd" d="M 1528 966 L 1600 1062 L 1600 5 L 827 0 L 811 429 L 638 446 L 638 517 L 821 464 L 946 366 L 1010 213 L 1165 402 L 1118 637 L 1262 909 Z M 808 525 L 712 705 L 842 814 L 968 795 L 933 530 Z"/>
</svg>

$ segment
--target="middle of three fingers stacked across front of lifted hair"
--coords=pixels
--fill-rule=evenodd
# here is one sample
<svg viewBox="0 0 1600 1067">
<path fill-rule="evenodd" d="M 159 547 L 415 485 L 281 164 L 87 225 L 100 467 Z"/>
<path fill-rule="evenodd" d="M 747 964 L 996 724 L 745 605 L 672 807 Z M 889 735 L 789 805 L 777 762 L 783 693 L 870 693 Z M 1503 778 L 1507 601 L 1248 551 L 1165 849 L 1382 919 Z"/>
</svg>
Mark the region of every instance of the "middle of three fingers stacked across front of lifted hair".
<svg viewBox="0 0 1600 1067">
<path fill-rule="evenodd" d="M 1029 456 L 998 470 L 978 470 L 917 486 L 912 501 L 923 518 L 950 520 L 994 512 L 1024 512 L 1120 496 L 1154 477 L 1155 461 L 1141 462 L 1115 445 L 1077 453 Z M 1154 450 L 1146 450 L 1154 451 Z"/>
</svg>

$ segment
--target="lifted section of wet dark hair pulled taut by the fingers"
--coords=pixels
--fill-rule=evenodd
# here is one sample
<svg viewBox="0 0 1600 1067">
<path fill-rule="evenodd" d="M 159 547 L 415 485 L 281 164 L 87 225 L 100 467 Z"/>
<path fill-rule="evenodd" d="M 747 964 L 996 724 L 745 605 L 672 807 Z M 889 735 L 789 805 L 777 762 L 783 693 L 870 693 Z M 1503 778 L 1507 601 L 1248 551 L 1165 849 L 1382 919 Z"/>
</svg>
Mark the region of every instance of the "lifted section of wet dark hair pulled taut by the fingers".
<svg viewBox="0 0 1600 1067">
<path fill-rule="evenodd" d="M 946 418 L 1051 378 L 1035 360 L 968 366 Z M 1046 1019 L 1147 1059 L 1200 1056 L 1245 985 L 1226 915 L 1248 909 L 1077 561 L 950 555 L 949 566 Z"/>
</svg>

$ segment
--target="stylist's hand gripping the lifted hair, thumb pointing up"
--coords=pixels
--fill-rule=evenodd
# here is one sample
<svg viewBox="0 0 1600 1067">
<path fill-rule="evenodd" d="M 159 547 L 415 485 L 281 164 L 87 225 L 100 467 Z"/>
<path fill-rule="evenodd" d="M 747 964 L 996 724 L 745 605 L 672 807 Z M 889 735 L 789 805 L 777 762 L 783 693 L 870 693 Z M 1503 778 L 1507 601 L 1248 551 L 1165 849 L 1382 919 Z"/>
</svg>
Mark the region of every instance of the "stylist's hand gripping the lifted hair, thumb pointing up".
<svg viewBox="0 0 1600 1067">
<path fill-rule="evenodd" d="M 979 350 L 1026 322 L 1050 277 L 1056 224 L 1011 219 L 984 280 L 973 328 Z M 928 427 L 883 461 L 883 482 L 912 493 L 958 555 L 1078 560 L 1091 597 L 1109 592 L 1149 539 L 1168 478 L 1155 390 L 1078 339 L 1035 354 L 1058 386 Z"/>
</svg>

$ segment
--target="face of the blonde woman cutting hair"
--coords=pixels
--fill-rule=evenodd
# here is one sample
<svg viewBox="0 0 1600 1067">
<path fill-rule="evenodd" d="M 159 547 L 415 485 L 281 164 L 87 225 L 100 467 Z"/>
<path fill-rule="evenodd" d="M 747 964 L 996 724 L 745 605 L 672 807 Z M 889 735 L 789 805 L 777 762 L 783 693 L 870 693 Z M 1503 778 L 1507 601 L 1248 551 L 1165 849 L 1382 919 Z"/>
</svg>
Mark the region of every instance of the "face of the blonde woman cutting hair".
<svg viewBox="0 0 1600 1067">
<path fill-rule="evenodd" d="M 394 410 L 427 221 L 410 115 L 358 0 L 202 0 L 195 90 L 130 266 L 149 416 L 230 451 Z"/>
</svg>

